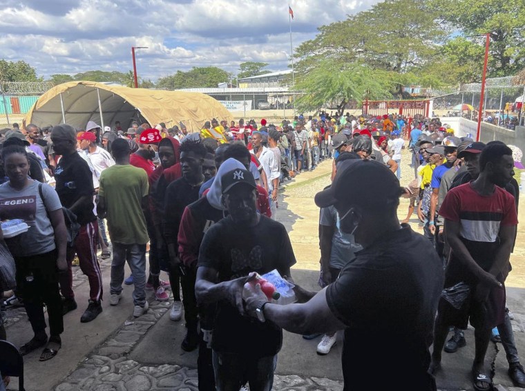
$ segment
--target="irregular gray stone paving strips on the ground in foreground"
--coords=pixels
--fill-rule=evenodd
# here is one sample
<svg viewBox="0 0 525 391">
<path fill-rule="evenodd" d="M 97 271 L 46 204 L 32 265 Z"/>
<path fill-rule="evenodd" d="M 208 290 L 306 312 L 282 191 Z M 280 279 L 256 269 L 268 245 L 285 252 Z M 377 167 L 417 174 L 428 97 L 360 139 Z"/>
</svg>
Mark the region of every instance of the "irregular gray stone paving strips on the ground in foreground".
<svg viewBox="0 0 525 391">
<path fill-rule="evenodd" d="M 171 292 L 169 301 L 150 299 L 146 314 L 124 321 L 117 332 L 88 354 L 77 369 L 56 386 L 55 391 L 197 391 L 198 377 L 194 368 L 167 364 L 142 365 L 128 359 L 131 350 L 169 310 L 172 302 Z M 343 383 L 317 377 L 276 375 L 274 390 L 341 391 Z"/>
</svg>

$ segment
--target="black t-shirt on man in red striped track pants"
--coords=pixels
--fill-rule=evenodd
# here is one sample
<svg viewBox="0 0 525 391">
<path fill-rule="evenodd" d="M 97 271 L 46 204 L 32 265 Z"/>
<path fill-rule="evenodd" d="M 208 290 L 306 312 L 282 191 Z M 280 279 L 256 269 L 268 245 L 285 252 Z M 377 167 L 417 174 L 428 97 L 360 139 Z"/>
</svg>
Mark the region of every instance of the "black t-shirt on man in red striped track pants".
<svg viewBox="0 0 525 391">
<path fill-rule="evenodd" d="M 57 190 L 60 202 L 66 208 L 71 208 L 80 197 L 95 194 L 93 174 L 88 163 L 80 157 L 78 152 L 60 158 L 55 170 L 55 180 L 57 181 L 55 190 Z M 75 212 L 80 225 L 97 219 L 93 214 L 93 201 L 84 203 Z"/>
</svg>

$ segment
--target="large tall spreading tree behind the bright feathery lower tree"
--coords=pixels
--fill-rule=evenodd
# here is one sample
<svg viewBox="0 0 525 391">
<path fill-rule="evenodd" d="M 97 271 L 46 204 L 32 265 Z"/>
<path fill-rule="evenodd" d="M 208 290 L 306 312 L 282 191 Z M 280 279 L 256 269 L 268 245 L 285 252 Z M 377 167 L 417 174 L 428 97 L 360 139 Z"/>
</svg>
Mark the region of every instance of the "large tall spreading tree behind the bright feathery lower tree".
<svg viewBox="0 0 525 391">
<path fill-rule="evenodd" d="M 320 61 L 362 61 L 368 66 L 397 73 L 410 72 L 432 59 L 445 37 L 437 14 L 424 0 L 386 0 L 319 28 L 317 36 L 298 46 L 296 70 L 307 74 Z M 397 87 L 401 92 L 402 86 Z"/>
</svg>

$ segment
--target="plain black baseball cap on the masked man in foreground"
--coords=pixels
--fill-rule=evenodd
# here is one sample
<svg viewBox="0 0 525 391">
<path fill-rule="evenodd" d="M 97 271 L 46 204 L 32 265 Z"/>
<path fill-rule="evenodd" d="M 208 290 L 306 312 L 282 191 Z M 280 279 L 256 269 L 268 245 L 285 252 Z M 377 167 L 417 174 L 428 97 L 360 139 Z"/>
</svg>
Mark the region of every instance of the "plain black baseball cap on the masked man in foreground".
<svg viewBox="0 0 525 391">
<path fill-rule="evenodd" d="M 318 192 L 315 202 L 326 208 L 338 201 L 376 208 L 399 201 L 401 186 L 387 166 L 374 160 L 345 160 L 338 164 L 332 186 Z"/>
</svg>

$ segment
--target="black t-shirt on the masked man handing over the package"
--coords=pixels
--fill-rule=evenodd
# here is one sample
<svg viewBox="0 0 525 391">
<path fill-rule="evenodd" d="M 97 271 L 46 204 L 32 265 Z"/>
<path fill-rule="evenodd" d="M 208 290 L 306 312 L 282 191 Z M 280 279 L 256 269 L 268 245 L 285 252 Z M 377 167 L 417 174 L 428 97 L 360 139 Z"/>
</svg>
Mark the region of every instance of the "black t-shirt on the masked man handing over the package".
<svg viewBox="0 0 525 391">
<path fill-rule="evenodd" d="M 330 310 L 345 325 L 345 390 L 435 390 L 427 373 L 443 266 L 421 234 L 403 224 L 341 270 L 328 286 Z M 372 382 L 371 382 L 371 379 Z"/>
</svg>

